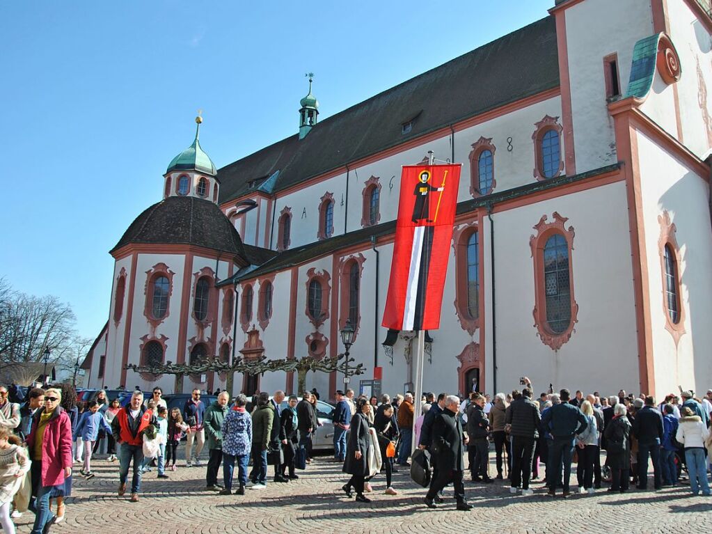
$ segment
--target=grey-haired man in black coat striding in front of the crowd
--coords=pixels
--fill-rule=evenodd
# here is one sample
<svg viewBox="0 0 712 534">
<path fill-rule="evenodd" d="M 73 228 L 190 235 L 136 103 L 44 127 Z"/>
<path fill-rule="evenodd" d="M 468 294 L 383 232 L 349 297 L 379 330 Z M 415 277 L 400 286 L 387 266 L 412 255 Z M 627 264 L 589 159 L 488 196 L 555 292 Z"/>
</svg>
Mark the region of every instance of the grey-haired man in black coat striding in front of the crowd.
<svg viewBox="0 0 712 534">
<path fill-rule="evenodd" d="M 468 439 L 462 431 L 462 424 L 457 417 L 459 406 L 460 399 L 455 395 L 445 397 L 445 409 L 436 417 L 433 423 L 431 432 L 433 440 L 432 451 L 438 469 L 425 496 L 425 503 L 428 508 L 437 508 L 435 497 L 438 492 L 449 483 L 453 483 L 457 509 L 462 511 L 472 509 L 472 505 L 465 500 L 465 486 L 463 483 L 465 462 L 462 455 Z M 430 409 L 430 412 L 432 412 L 432 409 Z"/>
</svg>

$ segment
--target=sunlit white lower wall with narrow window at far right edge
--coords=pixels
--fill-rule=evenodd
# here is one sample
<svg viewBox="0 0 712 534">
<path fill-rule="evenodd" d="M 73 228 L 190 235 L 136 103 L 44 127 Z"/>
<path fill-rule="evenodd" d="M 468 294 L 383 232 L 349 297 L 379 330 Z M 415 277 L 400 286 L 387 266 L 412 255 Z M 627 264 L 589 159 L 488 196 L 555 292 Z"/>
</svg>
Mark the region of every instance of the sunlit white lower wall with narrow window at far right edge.
<svg viewBox="0 0 712 534">
<path fill-rule="evenodd" d="M 712 230 L 707 182 L 639 133 L 638 153 L 643 197 L 646 260 L 656 395 L 683 389 L 704 392 L 712 376 Z M 668 211 L 680 247 L 681 305 L 684 328 L 676 346 L 665 329 L 658 216 Z"/>
</svg>

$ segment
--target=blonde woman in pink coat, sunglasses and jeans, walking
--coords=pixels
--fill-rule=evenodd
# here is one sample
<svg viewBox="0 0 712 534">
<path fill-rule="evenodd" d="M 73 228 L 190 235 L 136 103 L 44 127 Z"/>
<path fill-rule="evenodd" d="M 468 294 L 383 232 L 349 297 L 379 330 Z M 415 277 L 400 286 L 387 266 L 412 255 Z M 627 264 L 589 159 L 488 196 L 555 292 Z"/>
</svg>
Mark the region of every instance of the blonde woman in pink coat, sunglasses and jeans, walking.
<svg viewBox="0 0 712 534">
<path fill-rule="evenodd" d="M 47 389 L 45 407 L 33 416 L 27 438 L 32 459 L 33 484 L 37 484 L 35 523 L 31 534 L 47 534 L 57 519 L 49 509 L 53 489 L 63 491 L 64 479 L 72 474 L 72 425 L 59 405 L 59 389 Z"/>
</svg>

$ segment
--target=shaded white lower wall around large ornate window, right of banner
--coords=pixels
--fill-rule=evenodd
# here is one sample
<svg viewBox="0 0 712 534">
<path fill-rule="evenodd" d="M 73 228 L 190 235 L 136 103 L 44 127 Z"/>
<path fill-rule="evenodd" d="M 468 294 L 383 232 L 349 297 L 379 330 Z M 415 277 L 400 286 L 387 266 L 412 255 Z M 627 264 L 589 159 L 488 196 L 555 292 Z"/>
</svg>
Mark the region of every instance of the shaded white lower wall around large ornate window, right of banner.
<svg viewBox="0 0 712 534">
<path fill-rule="evenodd" d="M 575 237 L 570 255 L 573 288 L 579 305 L 571 338 L 552 350 L 534 328 L 534 267 L 530 236 L 541 216 L 568 217 Z M 495 214 L 497 388 L 518 387 L 526 375 L 535 388 L 569 387 L 617 392 L 638 389 L 629 223 L 624 182 L 568 194 Z M 491 273 L 489 224 L 483 229 L 485 272 Z M 486 274 L 485 305 L 491 302 Z M 486 370 L 491 387 L 492 318 L 487 310 Z M 539 391 L 540 390 L 540 391 Z"/>
</svg>

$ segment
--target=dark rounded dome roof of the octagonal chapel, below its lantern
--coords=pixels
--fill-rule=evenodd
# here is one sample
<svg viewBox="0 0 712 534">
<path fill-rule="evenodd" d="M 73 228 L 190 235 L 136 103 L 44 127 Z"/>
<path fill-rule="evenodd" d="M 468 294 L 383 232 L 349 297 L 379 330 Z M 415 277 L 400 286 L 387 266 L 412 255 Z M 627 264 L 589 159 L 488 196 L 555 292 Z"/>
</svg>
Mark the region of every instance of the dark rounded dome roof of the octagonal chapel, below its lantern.
<svg viewBox="0 0 712 534">
<path fill-rule="evenodd" d="M 202 246 L 245 260 L 242 240 L 220 208 L 195 197 L 168 197 L 153 204 L 136 217 L 110 252 L 130 243 Z"/>
</svg>

